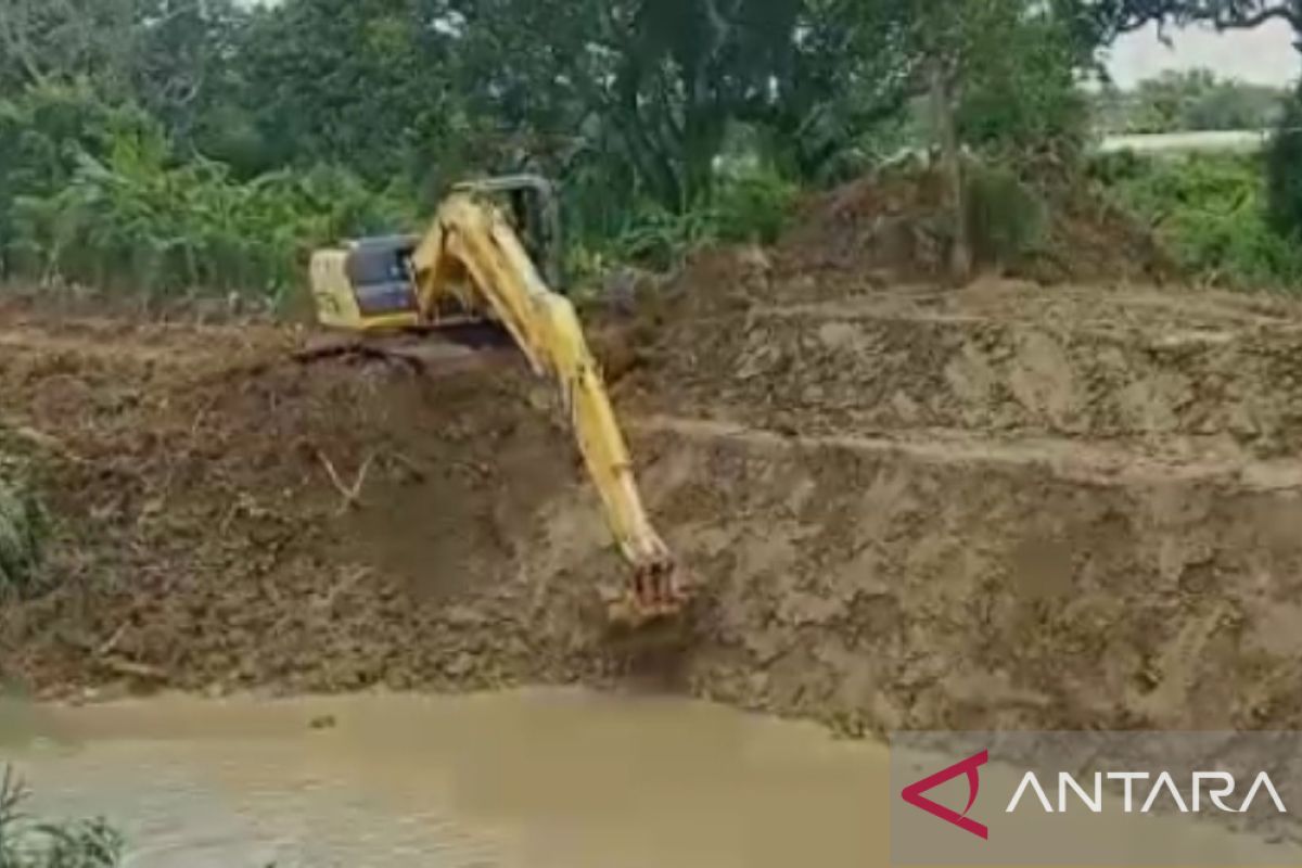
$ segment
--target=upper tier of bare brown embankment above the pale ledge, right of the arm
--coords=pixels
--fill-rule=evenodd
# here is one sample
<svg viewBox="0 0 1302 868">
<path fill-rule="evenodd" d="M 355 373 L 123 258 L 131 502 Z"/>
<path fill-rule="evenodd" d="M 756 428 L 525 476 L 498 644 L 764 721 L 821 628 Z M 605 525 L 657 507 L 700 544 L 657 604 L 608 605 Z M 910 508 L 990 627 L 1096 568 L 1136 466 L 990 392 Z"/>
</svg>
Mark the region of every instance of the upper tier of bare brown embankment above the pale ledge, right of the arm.
<svg viewBox="0 0 1302 868">
<path fill-rule="evenodd" d="M 1302 448 L 1295 314 L 1131 288 L 919 286 L 684 321 L 639 381 L 665 411 L 802 433 L 939 428 L 1284 457 Z"/>
</svg>

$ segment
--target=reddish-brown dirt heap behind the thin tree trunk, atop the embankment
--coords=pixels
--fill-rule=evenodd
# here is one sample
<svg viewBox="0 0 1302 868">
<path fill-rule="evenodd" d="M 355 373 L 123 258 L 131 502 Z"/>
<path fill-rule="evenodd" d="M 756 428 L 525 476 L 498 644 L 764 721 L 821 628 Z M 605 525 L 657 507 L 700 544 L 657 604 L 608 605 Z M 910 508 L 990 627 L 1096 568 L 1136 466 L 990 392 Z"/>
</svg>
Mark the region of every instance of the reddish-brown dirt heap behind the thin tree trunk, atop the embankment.
<svg viewBox="0 0 1302 868">
<path fill-rule="evenodd" d="M 982 269 L 1039 284 L 1161 284 L 1177 277 L 1152 233 L 1096 193 L 1049 181 L 1025 189 L 1026 206 L 1043 208 L 1044 238 L 1000 262 L 974 216 Z M 900 284 L 932 285 L 945 273 L 953 234 L 945 207 L 934 173 L 894 169 L 867 176 L 807 200 L 772 250 L 706 252 L 680 280 L 680 290 L 697 303 L 736 308 L 745 301 L 810 303 Z"/>
</svg>

